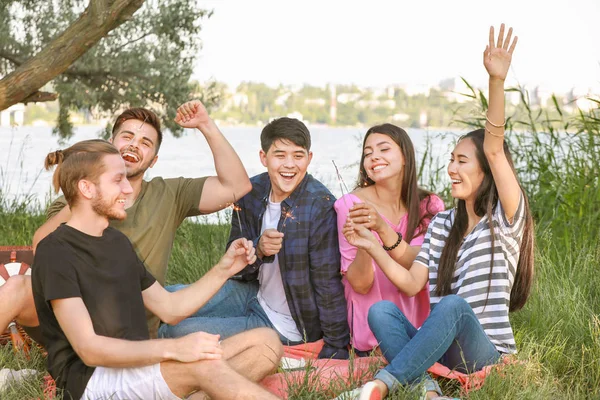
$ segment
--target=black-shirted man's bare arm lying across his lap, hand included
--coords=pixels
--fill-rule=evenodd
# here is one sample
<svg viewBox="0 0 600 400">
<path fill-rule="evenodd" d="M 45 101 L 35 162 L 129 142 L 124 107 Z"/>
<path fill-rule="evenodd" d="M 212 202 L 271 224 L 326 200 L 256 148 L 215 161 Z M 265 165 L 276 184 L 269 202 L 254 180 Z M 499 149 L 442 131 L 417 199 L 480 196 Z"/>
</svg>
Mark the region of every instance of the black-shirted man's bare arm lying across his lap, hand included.
<svg viewBox="0 0 600 400">
<path fill-rule="evenodd" d="M 193 362 L 221 358 L 219 336 L 197 332 L 179 339 L 132 341 L 97 335 L 80 297 L 51 300 L 67 340 L 88 366 L 141 367 L 167 360 Z"/>
</svg>

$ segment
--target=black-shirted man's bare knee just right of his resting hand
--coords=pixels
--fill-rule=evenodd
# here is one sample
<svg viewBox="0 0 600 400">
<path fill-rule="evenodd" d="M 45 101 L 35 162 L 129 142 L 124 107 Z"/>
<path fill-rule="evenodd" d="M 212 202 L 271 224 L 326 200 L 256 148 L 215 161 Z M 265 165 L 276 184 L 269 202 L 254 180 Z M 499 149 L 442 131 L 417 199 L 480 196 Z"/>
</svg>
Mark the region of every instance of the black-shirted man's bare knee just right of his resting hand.
<svg viewBox="0 0 600 400">
<path fill-rule="evenodd" d="M 270 328 L 239 333 L 223 340 L 221 346 L 227 364 L 253 382 L 273 373 L 283 356 L 279 335 Z"/>
</svg>

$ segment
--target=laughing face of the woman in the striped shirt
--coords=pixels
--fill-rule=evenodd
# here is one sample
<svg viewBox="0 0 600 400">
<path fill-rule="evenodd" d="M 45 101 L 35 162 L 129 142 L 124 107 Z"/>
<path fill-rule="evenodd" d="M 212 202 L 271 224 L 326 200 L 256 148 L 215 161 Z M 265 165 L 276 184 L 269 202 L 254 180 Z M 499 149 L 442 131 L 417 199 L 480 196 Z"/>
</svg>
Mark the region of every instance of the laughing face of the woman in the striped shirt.
<svg viewBox="0 0 600 400">
<path fill-rule="evenodd" d="M 452 197 L 474 201 L 485 174 L 477 160 L 477 148 L 469 138 L 463 139 L 454 148 L 448 164 L 448 175 L 452 180 Z"/>
</svg>

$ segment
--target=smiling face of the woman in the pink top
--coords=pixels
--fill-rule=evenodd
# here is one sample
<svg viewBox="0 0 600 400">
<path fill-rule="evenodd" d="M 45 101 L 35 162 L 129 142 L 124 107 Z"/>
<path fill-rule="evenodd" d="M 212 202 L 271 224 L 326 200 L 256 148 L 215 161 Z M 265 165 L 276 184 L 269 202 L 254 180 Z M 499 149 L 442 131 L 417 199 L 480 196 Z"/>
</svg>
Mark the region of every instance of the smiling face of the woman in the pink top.
<svg viewBox="0 0 600 400">
<path fill-rule="evenodd" d="M 365 140 L 363 167 L 375 183 L 385 179 L 399 179 L 404 169 L 404 155 L 400 146 L 388 135 L 371 133 Z"/>
</svg>

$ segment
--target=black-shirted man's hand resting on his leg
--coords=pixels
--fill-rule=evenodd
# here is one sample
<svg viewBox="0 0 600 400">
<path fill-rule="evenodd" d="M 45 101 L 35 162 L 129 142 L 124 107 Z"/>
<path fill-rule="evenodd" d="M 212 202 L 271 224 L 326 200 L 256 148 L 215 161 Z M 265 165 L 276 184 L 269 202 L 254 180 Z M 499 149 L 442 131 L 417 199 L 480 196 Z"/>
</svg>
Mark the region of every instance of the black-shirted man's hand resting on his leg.
<svg viewBox="0 0 600 400">
<path fill-rule="evenodd" d="M 179 362 L 195 362 L 200 360 L 218 360 L 223 355 L 219 335 L 206 332 L 194 332 L 173 339 L 168 358 Z"/>
</svg>

